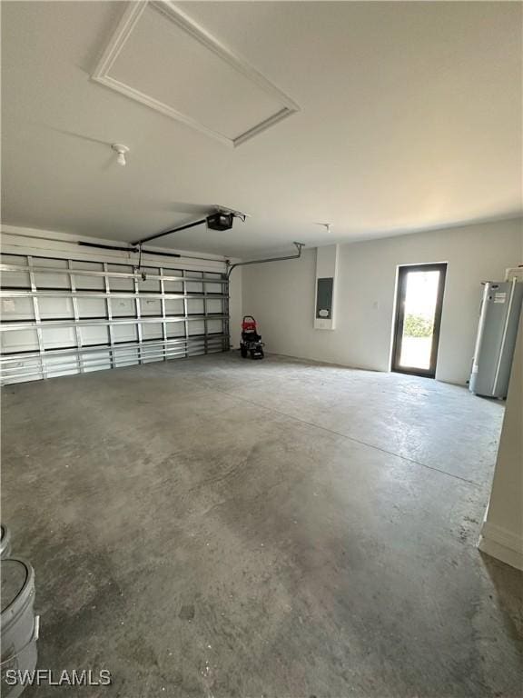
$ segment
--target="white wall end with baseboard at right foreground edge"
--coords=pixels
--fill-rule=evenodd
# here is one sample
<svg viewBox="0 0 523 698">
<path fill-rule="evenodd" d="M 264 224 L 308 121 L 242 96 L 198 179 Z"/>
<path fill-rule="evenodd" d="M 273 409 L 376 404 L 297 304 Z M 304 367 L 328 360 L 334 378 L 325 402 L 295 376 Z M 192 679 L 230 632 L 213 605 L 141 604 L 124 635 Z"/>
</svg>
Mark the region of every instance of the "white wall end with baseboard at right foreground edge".
<svg viewBox="0 0 523 698">
<path fill-rule="evenodd" d="M 523 570 L 523 317 L 479 548 Z"/>
</svg>

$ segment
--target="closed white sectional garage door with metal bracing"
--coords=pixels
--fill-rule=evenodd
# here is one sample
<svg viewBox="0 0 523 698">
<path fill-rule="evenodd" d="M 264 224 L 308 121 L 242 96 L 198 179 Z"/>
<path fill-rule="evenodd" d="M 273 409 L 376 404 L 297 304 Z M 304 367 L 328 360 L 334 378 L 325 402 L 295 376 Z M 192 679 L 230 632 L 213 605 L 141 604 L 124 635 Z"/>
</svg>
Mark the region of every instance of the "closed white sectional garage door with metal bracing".
<svg viewBox="0 0 523 698">
<path fill-rule="evenodd" d="M 4 384 L 229 349 L 226 274 L 3 254 Z"/>
</svg>

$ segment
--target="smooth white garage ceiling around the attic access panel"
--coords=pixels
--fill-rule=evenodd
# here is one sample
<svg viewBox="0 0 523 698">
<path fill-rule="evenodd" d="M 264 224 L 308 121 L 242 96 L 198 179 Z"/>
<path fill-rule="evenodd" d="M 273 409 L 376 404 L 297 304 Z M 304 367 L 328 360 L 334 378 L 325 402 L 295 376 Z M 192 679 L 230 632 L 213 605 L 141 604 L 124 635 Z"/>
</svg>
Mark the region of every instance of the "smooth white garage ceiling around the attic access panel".
<svg viewBox="0 0 523 698">
<path fill-rule="evenodd" d="M 162 244 L 249 255 L 521 213 L 522 5 L 178 6 L 301 112 L 230 148 L 90 79 L 124 3 L 3 3 L 6 224 L 132 241 L 224 204 L 252 218 Z"/>
</svg>

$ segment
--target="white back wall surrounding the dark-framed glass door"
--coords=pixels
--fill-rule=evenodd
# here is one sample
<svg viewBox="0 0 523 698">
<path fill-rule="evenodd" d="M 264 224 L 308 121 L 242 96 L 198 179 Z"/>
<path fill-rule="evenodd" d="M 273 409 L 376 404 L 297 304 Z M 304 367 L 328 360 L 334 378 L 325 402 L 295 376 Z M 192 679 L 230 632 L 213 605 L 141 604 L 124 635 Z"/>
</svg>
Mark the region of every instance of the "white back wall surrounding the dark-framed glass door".
<svg viewBox="0 0 523 698">
<path fill-rule="evenodd" d="M 342 244 L 336 330 L 314 330 L 315 250 L 300 260 L 243 268 L 243 312 L 269 352 L 387 371 L 399 264 L 447 262 L 436 377 L 465 384 L 478 324 L 480 282 L 523 259 L 522 219 Z"/>
</svg>

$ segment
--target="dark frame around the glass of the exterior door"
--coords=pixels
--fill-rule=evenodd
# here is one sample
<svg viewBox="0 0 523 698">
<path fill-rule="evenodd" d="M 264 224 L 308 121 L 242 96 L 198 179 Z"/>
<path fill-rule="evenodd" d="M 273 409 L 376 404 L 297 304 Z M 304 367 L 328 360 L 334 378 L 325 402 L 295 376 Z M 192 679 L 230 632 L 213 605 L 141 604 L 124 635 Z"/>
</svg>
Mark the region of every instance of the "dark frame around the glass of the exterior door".
<svg viewBox="0 0 523 698">
<path fill-rule="evenodd" d="M 403 323 L 405 319 L 405 295 L 407 291 L 407 274 L 409 272 L 439 272 L 438 292 L 436 297 L 436 310 L 434 313 L 434 331 L 432 333 L 432 348 L 430 351 L 429 368 L 415 368 L 414 366 L 401 366 L 401 340 L 403 337 Z M 390 370 L 397 374 L 420 375 L 425 378 L 436 377 L 436 365 L 438 363 L 439 333 L 441 330 L 441 313 L 443 310 L 443 295 L 445 294 L 445 279 L 447 276 L 447 262 L 435 264 L 400 264 L 398 267 L 398 284 L 396 290 L 396 313 L 394 314 L 394 333 L 392 343 L 392 361 Z"/>
</svg>

